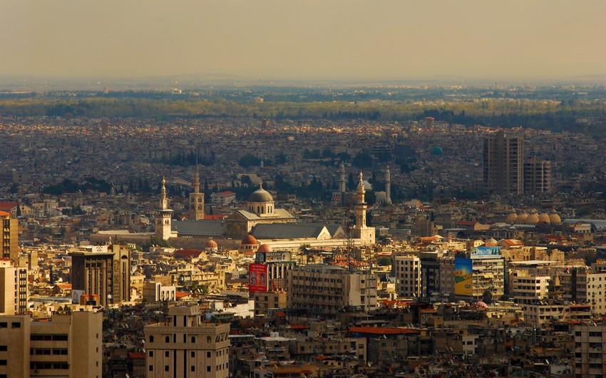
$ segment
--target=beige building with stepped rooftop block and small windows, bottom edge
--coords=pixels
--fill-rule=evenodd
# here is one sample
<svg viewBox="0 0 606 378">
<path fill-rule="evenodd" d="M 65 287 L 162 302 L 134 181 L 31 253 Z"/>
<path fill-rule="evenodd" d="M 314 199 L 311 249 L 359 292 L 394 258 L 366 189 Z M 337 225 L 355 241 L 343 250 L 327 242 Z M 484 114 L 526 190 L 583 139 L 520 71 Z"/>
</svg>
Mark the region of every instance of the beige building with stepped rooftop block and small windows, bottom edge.
<svg viewBox="0 0 606 378">
<path fill-rule="evenodd" d="M 200 307 L 170 307 L 164 323 L 147 325 L 145 371 L 148 378 L 226 378 L 230 325 L 202 322 Z"/>
</svg>

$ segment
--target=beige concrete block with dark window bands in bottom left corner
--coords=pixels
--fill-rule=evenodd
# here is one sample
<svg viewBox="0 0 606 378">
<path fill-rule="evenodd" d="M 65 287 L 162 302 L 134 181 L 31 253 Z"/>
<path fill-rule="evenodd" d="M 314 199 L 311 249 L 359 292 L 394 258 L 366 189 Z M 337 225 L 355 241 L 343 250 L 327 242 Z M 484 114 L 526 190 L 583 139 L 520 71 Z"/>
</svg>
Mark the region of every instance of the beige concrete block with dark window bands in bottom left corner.
<svg viewBox="0 0 606 378">
<path fill-rule="evenodd" d="M 0 316 L 0 377 L 94 377 L 103 365 L 101 312 Z"/>
</svg>

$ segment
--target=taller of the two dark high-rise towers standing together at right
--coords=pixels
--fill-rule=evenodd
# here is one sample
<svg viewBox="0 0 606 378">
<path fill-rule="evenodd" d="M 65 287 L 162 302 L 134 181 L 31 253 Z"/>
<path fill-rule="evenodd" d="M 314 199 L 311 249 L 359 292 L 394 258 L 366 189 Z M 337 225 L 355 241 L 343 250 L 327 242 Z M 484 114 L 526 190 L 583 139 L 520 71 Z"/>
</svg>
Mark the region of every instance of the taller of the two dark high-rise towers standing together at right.
<svg viewBox="0 0 606 378">
<path fill-rule="evenodd" d="M 497 194 L 522 194 L 524 141 L 499 132 L 484 138 L 484 183 Z"/>
</svg>

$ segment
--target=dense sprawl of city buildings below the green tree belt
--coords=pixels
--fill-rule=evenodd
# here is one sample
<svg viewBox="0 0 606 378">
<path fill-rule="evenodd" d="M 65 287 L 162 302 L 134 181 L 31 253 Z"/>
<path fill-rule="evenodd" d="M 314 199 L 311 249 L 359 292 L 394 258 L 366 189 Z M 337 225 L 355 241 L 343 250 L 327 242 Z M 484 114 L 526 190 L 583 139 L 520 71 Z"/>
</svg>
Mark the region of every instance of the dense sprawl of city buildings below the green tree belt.
<svg viewBox="0 0 606 378">
<path fill-rule="evenodd" d="M 595 131 L 9 108 L 5 377 L 602 374 Z"/>
</svg>

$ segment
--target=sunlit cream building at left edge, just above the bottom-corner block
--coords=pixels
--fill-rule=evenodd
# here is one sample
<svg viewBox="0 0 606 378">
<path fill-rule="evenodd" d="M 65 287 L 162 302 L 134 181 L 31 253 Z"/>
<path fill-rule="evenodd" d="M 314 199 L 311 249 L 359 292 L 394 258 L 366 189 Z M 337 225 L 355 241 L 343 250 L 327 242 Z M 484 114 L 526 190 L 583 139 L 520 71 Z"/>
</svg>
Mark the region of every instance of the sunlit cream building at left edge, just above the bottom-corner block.
<svg viewBox="0 0 606 378">
<path fill-rule="evenodd" d="M 27 310 L 27 267 L 16 267 L 9 257 L 0 258 L 0 314 L 24 314 Z"/>
</svg>

